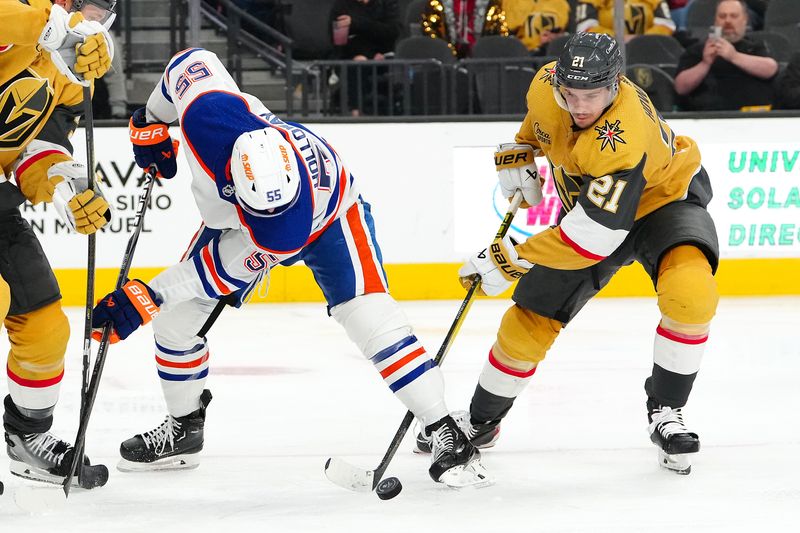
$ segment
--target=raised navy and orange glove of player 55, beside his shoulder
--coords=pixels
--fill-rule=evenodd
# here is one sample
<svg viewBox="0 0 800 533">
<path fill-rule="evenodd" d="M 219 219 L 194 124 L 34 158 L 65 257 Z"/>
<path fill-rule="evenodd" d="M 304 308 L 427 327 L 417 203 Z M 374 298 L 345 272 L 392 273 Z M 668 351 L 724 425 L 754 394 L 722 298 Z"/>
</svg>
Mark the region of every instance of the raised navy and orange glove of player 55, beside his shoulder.
<svg viewBox="0 0 800 533">
<path fill-rule="evenodd" d="M 128 125 L 133 143 L 133 157 L 143 169 L 150 165 L 158 168 L 159 178 L 170 179 L 178 172 L 178 141 L 169 136 L 169 127 L 163 122 L 148 123 L 146 110 L 140 107 L 133 112 Z"/>
</svg>

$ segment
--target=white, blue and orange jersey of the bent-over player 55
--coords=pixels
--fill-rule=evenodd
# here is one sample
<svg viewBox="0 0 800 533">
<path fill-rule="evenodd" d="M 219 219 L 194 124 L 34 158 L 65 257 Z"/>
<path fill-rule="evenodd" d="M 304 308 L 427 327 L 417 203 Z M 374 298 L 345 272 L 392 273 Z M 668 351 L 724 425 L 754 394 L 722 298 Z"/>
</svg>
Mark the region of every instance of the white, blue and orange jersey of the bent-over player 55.
<svg viewBox="0 0 800 533">
<path fill-rule="evenodd" d="M 270 266 L 297 255 L 358 198 L 350 173 L 324 139 L 241 92 L 208 50 L 190 48 L 169 61 L 146 113 L 148 121 L 179 121 L 195 203 L 203 224 L 220 230 L 202 250 L 153 279 L 165 306 L 252 284 Z M 230 172 L 236 139 L 262 128 L 275 128 L 293 146 L 301 174 L 297 201 L 275 216 L 242 209 Z"/>
</svg>

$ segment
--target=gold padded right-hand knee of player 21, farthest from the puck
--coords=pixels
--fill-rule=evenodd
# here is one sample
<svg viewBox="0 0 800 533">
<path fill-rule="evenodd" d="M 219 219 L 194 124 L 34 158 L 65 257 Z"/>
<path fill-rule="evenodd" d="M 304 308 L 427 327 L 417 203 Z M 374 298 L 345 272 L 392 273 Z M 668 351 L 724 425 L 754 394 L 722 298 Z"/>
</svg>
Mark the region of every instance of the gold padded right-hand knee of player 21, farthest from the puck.
<svg viewBox="0 0 800 533">
<path fill-rule="evenodd" d="M 678 246 L 664 254 L 656 287 L 661 315 L 673 323 L 707 325 L 717 311 L 719 293 L 711 265 L 694 246 Z"/>
</svg>

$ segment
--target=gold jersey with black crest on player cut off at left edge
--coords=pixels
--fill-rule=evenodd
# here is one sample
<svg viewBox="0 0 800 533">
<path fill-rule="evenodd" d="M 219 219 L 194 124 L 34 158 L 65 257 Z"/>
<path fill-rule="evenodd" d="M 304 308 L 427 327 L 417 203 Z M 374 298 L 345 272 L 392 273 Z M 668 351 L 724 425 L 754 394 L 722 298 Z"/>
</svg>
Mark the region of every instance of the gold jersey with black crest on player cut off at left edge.
<svg viewBox="0 0 800 533">
<path fill-rule="evenodd" d="M 0 165 L 8 174 L 22 149 L 58 105 L 74 106 L 82 88 L 71 84 L 37 44 L 49 16 L 48 0 L 0 2 Z"/>
</svg>

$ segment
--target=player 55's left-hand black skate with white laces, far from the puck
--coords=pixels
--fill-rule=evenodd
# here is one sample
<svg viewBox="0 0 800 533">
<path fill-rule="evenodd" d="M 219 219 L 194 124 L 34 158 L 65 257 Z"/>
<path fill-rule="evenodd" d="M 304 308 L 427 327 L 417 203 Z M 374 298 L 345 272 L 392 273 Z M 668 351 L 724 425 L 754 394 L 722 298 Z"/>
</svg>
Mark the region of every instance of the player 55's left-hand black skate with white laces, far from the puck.
<svg viewBox="0 0 800 533">
<path fill-rule="evenodd" d="M 178 418 L 167 415 L 155 429 L 126 440 L 119 447 L 122 456 L 117 469 L 122 472 L 184 470 L 200 465 L 203 425 L 211 392 L 200 395 L 201 407 Z"/>
</svg>

